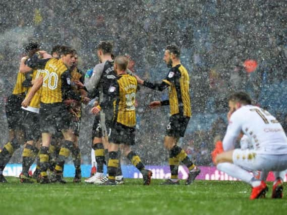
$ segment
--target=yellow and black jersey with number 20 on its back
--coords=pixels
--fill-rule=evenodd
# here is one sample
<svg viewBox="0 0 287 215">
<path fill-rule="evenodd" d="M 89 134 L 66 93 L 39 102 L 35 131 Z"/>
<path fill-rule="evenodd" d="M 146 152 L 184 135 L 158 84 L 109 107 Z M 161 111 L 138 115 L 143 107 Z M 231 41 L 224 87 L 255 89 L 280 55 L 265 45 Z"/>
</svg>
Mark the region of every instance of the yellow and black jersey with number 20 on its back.
<svg viewBox="0 0 287 215">
<path fill-rule="evenodd" d="M 31 68 L 42 69 L 41 103 L 59 103 L 68 98 L 81 100 L 81 96 L 71 87 L 71 73 L 61 59 L 39 59 L 38 54 L 34 54 L 26 64 Z"/>
</svg>

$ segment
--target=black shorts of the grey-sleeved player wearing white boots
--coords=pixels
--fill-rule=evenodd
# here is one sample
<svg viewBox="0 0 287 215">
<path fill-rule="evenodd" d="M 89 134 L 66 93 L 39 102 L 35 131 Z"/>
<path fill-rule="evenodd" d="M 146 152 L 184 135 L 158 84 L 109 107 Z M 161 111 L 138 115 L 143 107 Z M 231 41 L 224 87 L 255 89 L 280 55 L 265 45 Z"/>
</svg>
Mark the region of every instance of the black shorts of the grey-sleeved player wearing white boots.
<svg viewBox="0 0 287 215">
<path fill-rule="evenodd" d="M 109 136 L 111 131 L 112 121 L 106 120 L 105 114 L 100 113 L 95 116 L 92 138 L 98 137 L 101 138 L 103 136 Z"/>
</svg>

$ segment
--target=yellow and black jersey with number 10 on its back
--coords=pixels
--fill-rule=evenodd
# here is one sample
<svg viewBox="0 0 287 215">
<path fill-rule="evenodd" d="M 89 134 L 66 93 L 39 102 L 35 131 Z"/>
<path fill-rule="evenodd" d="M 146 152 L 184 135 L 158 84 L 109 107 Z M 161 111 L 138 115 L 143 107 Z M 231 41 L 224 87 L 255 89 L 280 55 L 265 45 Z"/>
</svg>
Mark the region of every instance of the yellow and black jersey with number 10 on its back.
<svg viewBox="0 0 287 215">
<path fill-rule="evenodd" d="M 113 101 L 113 121 L 128 127 L 136 125 L 136 93 L 138 82 L 134 76 L 120 75 L 109 87 L 108 97 L 101 107 L 108 107 Z"/>
</svg>

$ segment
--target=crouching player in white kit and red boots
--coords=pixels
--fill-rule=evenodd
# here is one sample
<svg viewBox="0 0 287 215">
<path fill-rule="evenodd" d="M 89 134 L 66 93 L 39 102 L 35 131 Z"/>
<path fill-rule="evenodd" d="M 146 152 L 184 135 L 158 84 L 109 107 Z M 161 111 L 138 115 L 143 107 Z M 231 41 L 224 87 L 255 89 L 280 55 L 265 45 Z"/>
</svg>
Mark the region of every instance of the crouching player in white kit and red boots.
<svg viewBox="0 0 287 215">
<path fill-rule="evenodd" d="M 287 137 L 282 126 L 266 110 L 251 105 L 250 96 L 244 92 L 232 94 L 228 105 L 228 127 L 223 152 L 215 159 L 217 169 L 249 183 L 250 199 L 264 197 L 268 188 L 264 180 L 256 179 L 247 170 L 273 171 L 272 198 L 282 198 L 282 179 L 287 169 Z M 234 149 L 241 132 L 251 139 L 253 150 Z"/>
</svg>

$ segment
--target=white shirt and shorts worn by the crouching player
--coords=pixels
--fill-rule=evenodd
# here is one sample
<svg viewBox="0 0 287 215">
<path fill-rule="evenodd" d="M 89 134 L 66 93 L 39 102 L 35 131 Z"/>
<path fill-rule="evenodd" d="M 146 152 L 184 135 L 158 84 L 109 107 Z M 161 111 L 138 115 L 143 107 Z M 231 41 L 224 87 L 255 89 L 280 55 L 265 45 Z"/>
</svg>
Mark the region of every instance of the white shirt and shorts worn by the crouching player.
<svg viewBox="0 0 287 215">
<path fill-rule="evenodd" d="M 241 131 L 245 134 L 243 145 L 245 141 L 249 147 L 234 150 Z M 234 164 L 250 171 L 287 169 L 287 137 L 282 126 L 269 112 L 253 105 L 242 106 L 232 114 L 223 150 L 234 150 Z"/>
</svg>

